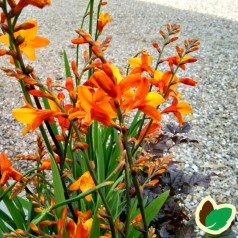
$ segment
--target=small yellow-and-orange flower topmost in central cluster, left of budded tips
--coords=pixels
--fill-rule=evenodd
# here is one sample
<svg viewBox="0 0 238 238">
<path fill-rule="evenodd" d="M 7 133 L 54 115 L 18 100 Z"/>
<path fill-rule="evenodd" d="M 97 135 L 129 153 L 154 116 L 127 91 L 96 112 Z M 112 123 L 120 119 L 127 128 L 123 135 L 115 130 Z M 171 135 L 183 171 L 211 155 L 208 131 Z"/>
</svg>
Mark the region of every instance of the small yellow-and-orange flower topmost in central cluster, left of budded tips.
<svg viewBox="0 0 238 238">
<path fill-rule="evenodd" d="M 130 74 L 136 74 L 136 73 L 143 73 L 144 71 L 149 73 L 150 75 L 153 75 L 154 70 L 150 66 L 152 62 L 153 57 L 149 55 L 147 51 L 142 51 L 141 53 L 141 58 L 132 58 L 129 59 L 129 64 L 130 66 L 134 67 Z"/>
</svg>

